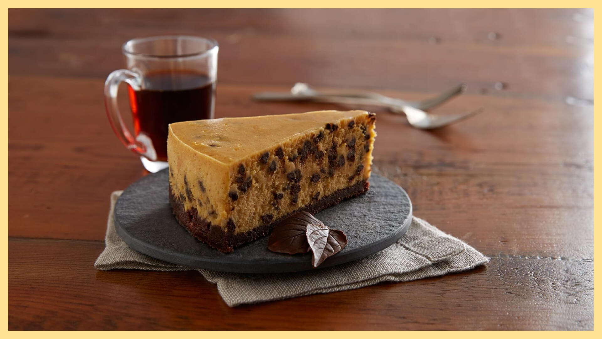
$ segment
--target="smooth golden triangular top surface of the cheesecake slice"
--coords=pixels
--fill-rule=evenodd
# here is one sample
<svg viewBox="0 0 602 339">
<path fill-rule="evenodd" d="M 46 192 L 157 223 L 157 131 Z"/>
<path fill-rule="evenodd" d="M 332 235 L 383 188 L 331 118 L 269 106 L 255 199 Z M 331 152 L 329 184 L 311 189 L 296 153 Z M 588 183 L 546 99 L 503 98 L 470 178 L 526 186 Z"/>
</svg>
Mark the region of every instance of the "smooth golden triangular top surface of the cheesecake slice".
<svg viewBox="0 0 602 339">
<path fill-rule="evenodd" d="M 175 122 L 170 130 L 182 144 L 222 163 L 232 163 L 327 123 L 368 115 L 364 110 L 249 116 Z"/>
</svg>

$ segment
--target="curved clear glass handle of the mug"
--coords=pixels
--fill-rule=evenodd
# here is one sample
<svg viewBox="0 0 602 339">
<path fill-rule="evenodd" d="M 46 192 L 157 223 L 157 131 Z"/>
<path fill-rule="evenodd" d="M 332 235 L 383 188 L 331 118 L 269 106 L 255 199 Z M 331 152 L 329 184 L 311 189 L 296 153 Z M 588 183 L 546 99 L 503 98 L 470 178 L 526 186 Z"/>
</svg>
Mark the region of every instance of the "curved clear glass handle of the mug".
<svg viewBox="0 0 602 339">
<path fill-rule="evenodd" d="M 152 147 L 152 142 L 149 138 L 134 138 L 128 127 L 123 123 L 123 118 L 119 112 L 117 104 L 117 92 L 119 84 L 125 81 L 132 87 L 133 90 L 140 89 L 141 77 L 135 72 L 127 69 L 118 69 L 111 72 L 105 81 L 105 108 L 107 116 L 113 131 L 117 138 L 125 145 L 128 150 L 134 151 L 141 156 L 147 157 L 149 160 L 157 160 L 157 153 Z M 144 137 L 144 135 L 141 135 Z"/>
</svg>

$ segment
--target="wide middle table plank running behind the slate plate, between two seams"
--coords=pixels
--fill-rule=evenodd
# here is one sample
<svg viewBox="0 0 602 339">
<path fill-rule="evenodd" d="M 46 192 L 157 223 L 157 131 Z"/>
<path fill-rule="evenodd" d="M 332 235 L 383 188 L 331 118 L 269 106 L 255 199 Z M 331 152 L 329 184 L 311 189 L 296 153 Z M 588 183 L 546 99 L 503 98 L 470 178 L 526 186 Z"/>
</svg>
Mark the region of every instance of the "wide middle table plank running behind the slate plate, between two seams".
<svg viewBox="0 0 602 339">
<path fill-rule="evenodd" d="M 341 109 L 254 103 L 250 95 L 260 90 L 285 87 L 222 84 L 217 115 Z M 110 192 L 140 177 L 141 166 L 114 137 L 101 91 L 98 80 L 10 77 L 9 235 L 103 239 Z M 72 100 L 52 105 L 71 93 Z M 468 234 L 477 248 L 591 258 L 591 109 L 487 95 L 465 95 L 446 109 L 479 106 L 487 109 L 482 116 L 433 133 L 378 110 L 376 170 L 408 189 L 416 215 L 456 236 Z M 42 122 L 36 133 L 30 119 Z M 550 230 L 550 224 L 572 226 Z"/>
</svg>

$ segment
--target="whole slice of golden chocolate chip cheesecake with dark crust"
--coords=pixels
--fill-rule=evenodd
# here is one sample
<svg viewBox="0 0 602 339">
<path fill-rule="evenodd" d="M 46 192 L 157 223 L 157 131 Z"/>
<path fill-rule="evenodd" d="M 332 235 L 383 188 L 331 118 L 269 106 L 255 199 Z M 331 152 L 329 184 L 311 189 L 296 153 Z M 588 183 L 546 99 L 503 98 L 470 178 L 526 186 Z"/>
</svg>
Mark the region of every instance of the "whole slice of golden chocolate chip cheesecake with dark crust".
<svg viewBox="0 0 602 339">
<path fill-rule="evenodd" d="M 334 110 L 169 125 L 170 202 L 193 236 L 221 252 L 368 189 L 374 121 Z"/>
</svg>

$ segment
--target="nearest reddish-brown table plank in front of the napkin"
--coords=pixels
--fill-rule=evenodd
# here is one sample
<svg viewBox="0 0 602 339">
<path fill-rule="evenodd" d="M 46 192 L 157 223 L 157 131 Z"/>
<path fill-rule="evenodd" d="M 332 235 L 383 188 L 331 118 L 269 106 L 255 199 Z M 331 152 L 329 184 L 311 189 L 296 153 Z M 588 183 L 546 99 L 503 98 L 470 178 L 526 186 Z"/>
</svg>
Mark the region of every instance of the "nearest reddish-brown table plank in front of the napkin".
<svg viewBox="0 0 602 339">
<path fill-rule="evenodd" d="M 593 328 L 594 264 L 581 259 L 494 256 L 467 273 L 229 308 L 196 271 L 97 271 L 103 246 L 11 238 L 9 328 Z"/>
</svg>

